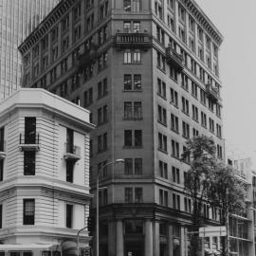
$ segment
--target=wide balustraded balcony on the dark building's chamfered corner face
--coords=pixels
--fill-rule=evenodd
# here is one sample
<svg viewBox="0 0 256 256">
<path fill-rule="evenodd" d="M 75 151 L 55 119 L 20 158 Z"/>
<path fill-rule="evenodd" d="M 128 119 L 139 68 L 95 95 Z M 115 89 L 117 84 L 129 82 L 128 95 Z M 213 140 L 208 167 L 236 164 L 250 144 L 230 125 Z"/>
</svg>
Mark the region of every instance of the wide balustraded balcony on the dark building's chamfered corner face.
<svg viewBox="0 0 256 256">
<path fill-rule="evenodd" d="M 144 48 L 151 46 L 148 33 L 117 33 L 116 46 L 119 48 Z"/>
</svg>

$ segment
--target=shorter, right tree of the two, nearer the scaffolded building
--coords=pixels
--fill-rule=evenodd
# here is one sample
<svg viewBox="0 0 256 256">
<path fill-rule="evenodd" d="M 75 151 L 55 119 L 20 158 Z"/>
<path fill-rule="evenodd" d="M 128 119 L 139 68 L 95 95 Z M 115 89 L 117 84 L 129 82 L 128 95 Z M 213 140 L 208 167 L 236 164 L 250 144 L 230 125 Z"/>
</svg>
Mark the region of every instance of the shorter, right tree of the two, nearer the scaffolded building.
<svg viewBox="0 0 256 256">
<path fill-rule="evenodd" d="M 246 188 L 245 182 L 231 166 L 219 163 L 210 179 L 208 193 L 212 207 L 220 209 L 220 224 L 228 226 L 229 212 L 245 210 Z M 222 256 L 228 255 L 227 237 L 221 238 Z"/>
</svg>

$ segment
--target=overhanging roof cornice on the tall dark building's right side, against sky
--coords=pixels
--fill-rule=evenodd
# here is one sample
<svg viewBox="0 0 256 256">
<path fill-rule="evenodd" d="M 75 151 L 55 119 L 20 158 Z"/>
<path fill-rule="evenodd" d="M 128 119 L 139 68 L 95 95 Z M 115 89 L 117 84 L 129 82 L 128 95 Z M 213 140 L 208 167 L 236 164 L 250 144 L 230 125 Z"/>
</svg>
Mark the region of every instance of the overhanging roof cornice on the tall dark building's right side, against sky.
<svg viewBox="0 0 256 256">
<path fill-rule="evenodd" d="M 189 9 L 193 18 L 196 19 L 198 24 L 203 27 L 209 34 L 214 42 L 220 46 L 223 42 L 223 35 L 217 27 L 213 25 L 206 13 L 196 4 L 194 0 L 179 0 L 186 9 Z"/>
</svg>

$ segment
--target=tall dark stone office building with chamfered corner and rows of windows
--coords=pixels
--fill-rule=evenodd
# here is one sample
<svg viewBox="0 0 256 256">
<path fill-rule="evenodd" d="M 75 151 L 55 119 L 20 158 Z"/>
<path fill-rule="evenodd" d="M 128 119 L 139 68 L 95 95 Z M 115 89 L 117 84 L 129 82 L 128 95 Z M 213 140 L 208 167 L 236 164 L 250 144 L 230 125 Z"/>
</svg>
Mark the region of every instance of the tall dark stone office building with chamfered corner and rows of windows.
<svg viewBox="0 0 256 256">
<path fill-rule="evenodd" d="M 100 255 L 188 254 L 190 166 L 180 155 L 198 134 L 224 155 L 222 40 L 193 0 L 65 0 L 19 46 L 24 86 L 88 108 L 98 125 L 91 188 L 101 171 Z M 117 158 L 124 164 L 101 170 Z M 217 224 L 207 202 L 204 214 Z"/>
</svg>

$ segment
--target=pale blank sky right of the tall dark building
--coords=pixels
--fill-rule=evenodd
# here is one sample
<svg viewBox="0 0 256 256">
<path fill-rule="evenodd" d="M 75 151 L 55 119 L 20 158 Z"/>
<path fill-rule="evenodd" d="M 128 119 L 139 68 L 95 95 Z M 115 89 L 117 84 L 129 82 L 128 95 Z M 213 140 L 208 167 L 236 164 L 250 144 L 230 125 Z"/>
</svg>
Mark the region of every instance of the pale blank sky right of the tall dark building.
<svg viewBox="0 0 256 256">
<path fill-rule="evenodd" d="M 219 62 L 226 145 L 256 162 L 256 1 L 196 2 L 224 36 Z"/>
</svg>

